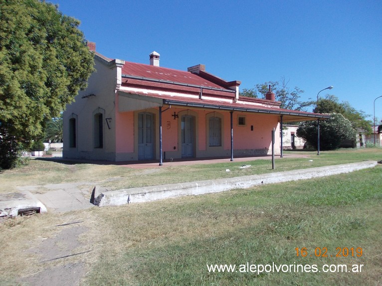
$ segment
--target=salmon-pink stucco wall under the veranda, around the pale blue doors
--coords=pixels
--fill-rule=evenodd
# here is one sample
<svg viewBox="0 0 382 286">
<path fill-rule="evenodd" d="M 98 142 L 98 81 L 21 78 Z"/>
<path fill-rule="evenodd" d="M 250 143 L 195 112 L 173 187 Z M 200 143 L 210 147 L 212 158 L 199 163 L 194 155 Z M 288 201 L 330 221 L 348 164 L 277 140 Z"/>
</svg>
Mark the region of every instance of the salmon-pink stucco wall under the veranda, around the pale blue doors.
<svg viewBox="0 0 382 286">
<path fill-rule="evenodd" d="M 174 120 L 174 114 L 180 114 L 179 118 Z M 205 151 L 207 143 L 206 117 L 211 111 L 190 110 L 190 115 L 195 116 L 196 128 L 196 150 Z M 223 121 L 223 149 L 231 148 L 230 134 L 230 114 L 229 112 L 215 112 L 222 116 Z M 185 109 L 174 108 L 162 113 L 162 143 L 163 151 L 179 151 L 179 136 L 181 116 L 185 114 Z M 245 126 L 238 126 L 237 117 L 245 116 Z M 159 126 L 159 119 L 156 118 L 156 125 Z M 253 126 L 253 131 L 251 131 Z M 262 114 L 242 114 L 233 113 L 233 138 L 234 149 L 261 149 L 271 147 L 271 131 L 276 129 L 276 146 L 279 145 L 278 117 Z M 156 139 L 158 143 L 158 139 Z M 175 147 L 175 148 L 174 148 Z M 116 112 L 116 150 L 117 152 L 134 152 L 134 112 Z"/>
</svg>

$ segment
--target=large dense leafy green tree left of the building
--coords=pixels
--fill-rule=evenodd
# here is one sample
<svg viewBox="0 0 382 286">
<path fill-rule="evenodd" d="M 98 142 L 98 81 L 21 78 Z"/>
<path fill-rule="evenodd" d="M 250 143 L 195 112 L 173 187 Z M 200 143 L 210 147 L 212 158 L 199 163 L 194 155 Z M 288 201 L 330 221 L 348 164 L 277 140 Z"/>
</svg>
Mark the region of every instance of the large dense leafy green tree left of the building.
<svg viewBox="0 0 382 286">
<path fill-rule="evenodd" d="M 93 71 L 79 21 L 38 0 L 0 0 L 0 123 L 9 138 L 41 138 Z"/>
</svg>

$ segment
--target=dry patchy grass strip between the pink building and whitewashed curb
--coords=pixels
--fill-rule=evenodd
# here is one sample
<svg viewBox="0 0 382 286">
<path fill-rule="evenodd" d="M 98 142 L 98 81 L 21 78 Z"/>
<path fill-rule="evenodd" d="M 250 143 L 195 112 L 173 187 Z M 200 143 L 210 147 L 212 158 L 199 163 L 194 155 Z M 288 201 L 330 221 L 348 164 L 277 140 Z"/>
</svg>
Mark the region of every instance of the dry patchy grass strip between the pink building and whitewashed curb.
<svg viewBox="0 0 382 286">
<path fill-rule="evenodd" d="M 0 172 L 0 194 L 17 191 L 17 186 L 26 185 L 40 186 L 36 191 L 43 192 L 42 186 L 45 184 L 68 182 L 82 182 L 88 190 L 91 190 L 95 184 L 117 190 L 382 159 L 382 148 L 323 151 L 320 156 L 316 155 L 316 151 L 285 151 L 284 153 L 300 154 L 304 157 L 277 159 L 275 170 L 272 170 L 271 158 L 246 162 L 230 162 L 227 159 L 224 163 L 181 166 L 165 163 L 164 166 L 151 169 L 133 169 L 128 165 L 31 159 L 29 165 Z M 243 164 L 249 164 L 251 167 L 240 169 L 239 167 Z M 226 172 L 226 169 L 230 169 L 230 172 Z"/>
</svg>

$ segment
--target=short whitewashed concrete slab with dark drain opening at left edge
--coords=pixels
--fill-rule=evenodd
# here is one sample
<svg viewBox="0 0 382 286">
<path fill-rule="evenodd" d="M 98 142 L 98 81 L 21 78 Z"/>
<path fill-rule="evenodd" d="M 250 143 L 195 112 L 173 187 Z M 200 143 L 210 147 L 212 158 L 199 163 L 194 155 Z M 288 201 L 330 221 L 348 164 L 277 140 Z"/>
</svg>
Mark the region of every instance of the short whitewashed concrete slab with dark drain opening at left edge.
<svg viewBox="0 0 382 286">
<path fill-rule="evenodd" d="M 31 211 L 46 212 L 46 207 L 29 191 L 19 191 L 0 196 L 0 217 L 15 217 Z"/>
</svg>

